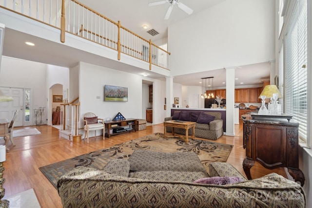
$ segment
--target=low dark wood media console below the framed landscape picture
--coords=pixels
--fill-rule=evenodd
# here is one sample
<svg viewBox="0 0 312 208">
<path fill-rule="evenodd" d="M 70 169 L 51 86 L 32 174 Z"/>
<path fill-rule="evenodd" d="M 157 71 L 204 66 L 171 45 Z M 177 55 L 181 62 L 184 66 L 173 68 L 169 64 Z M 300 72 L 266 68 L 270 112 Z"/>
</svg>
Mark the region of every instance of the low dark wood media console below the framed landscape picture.
<svg viewBox="0 0 312 208">
<path fill-rule="evenodd" d="M 128 118 L 128 119 L 123 119 L 123 120 L 118 120 L 118 121 L 104 121 L 104 125 L 105 125 L 105 136 L 107 136 L 108 138 L 111 135 L 116 135 L 119 133 L 125 133 L 125 132 L 132 132 L 133 130 L 136 132 L 136 126 L 138 125 L 138 120 L 137 118 Z M 120 131 L 120 132 L 113 132 L 114 128 L 117 127 L 123 127 L 123 126 L 128 126 L 129 128 L 124 129 L 124 131 Z"/>
</svg>

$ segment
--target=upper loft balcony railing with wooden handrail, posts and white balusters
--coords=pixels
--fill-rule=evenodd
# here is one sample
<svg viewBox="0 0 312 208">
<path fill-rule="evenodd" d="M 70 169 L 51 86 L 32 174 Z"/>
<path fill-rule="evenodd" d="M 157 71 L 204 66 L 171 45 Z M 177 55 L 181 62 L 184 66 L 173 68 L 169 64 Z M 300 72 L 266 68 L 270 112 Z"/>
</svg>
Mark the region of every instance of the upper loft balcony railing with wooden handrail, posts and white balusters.
<svg viewBox="0 0 312 208">
<path fill-rule="evenodd" d="M 38 1 L 37 1 L 37 4 L 38 4 Z M 51 4 L 51 2 L 50 2 L 50 4 Z M 101 32 L 97 32 L 97 30 L 95 30 L 95 32 L 93 32 L 92 29 L 91 29 L 91 31 L 88 30 L 88 29 L 84 29 L 83 25 L 81 25 L 81 28 L 79 28 L 80 30 L 78 29 L 79 32 L 76 32 L 77 29 L 75 28 L 75 25 L 76 25 L 75 19 L 78 19 L 79 12 L 70 14 L 72 10 L 70 10 L 70 9 L 67 10 L 67 7 L 69 8 L 69 6 L 71 4 L 74 4 L 73 5 L 74 10 L 77 9 L 77 8 L 78 8 L 78 11 L 80 11 L 79 9 L 87 10 L 88 15 L 91 12 L 92 13 L 91 15 L 96 15 L 97 18 L 101 18 L 101 19 L 103 19 L 103 21 L 106 21 L 106 24 L 110 25 L 109 28 L 106 28 L 108 30 L 108 33 L 110 34 L 109 38 L 108 37 L 104 37 L 104 34 L 101 34 Z M 4 4 L 4 5 L 6 6 L 6 4 Z M 117 59 L 118 60 L 120 60 L 121 53 L 123 53 L 123 54 L 126 54 L 128 56 L 132 56 L 132 57 L 138 58 L 140 60 L 149 62 L 149 64 L 150 64 L 149 65 L 149 69 L 150 70 L 152 69 L 152 64 L 169 70 L 168 69 L 168 60 L 169 60 L 168 56 L 171 55 L 171 53 L 161 49 L 158 46 L 156 46 L 155 44 L 153 44 L 151 42 L 151 40 L 147 40 L 145 38 L 142 38 L 142 37 L 138 36 L 136 33 L 134 33 L 132 31 L 128 30 L 127 28 L 121 26 L 120 21 L 115 22 L 112 19 L 109 19 L 109 18 L 99 14 L 95 10 L 87 7 L 86 5 L 78 2 L 77 0 L 62 0 L 61 1 L 61 9 L 60 9 L 61 10 L 60 11 L 61 15 L 60 15 L 60 17 L 58 17 L 58 15 L 56 15 L 56 17 L 55 17 L 55 19 L 56 19 L 55 22 L 56 23 L 55 24 L 51 22 L 51 16 L 50 16 L 50 18 L 45 18 L 44 15 L 43 15 L 43 17 L 39 17 L 37 15 L 37 17 L 34 18 L 30 14 L 29 15 L 25 14 L 23 12 L 24 11 L 23 10 L 23 5 L 21 5 L 21 6 L 22 6 L 21 11 L 16 11 L 15 7 L 13 8 L 13 10 L 10 9 L 9 7 L 7 7 L 7 8 L 4 7 L 4 6 L 0 6 L 0 7 L 4 8 L 4 9 L 7 9 L 8 11 L 20 14 L 20 15 L 22 15 L 24 17 L 27 17 L 27 18 L 30 18 L 30 19 L 42 22 L 42 23 L 44 23 L 46 25 L 49 25 L 49 26 L 52 26 L 54 28 L 59 29 L 60 30 L 60 42 L 62 42 L 62 43 L 65 42 L 65 38 L 66 38 L 66 34 L 65 33 L 67 32 L 67 33 L 70 33 L 70 34 L 73 34 L 73 35 L 80 36 L 81 38 L 85 38 L 85 39 L 88 39 L 90 41 L 93 41 L 93 42 L 98 43 L 98 44 L 100 44 L 102 46 L 109 47 L 109 48 L 111 48 L 113 50 L 117 50 L 117 52 L 118 52 Z M 54 8 L 54 7 L 52 6 L 51 8 Z M 57 9 L 58 8 L 59 7 L 57 7 Z M 39 9 L 41 9 L 41 7 L 39 8 L 38 5 L 37 5 L 37 8 L 34 8 L 34 10 L 36 10 L 36 9 L 39 10 Z M 52 13 L 51 9 L 50 9 L 50 13 Z M 66 22 L 66 17 L 70 17 L 71 21 L 70 22 Z M 72 20 L 72 18 L 74 19 L 74 21 Z M 53 17 L 53 21 L 54 21 L 54 17 Z M 82 21 L 82 23 L 83 22 L 85 22 L 85 21 Z M 68 28 L 66 28 L 66 24 L 69 24 Z M 70 28 L 70 24 L 73 24 L 72 25 L 73 28 Z M 80 26 L 79 19 L 78 19 L 78 24 Z M 93 40 L 92 38 L 84 37 L 83 34 L 81 34 L 82 31 L 87 32 L 87 34 L 91 34 L 91 37 L 95 36 L 95 37 L 98 37 L 98 39 L 102 39 L 103 42 L 100 43 L 99 41 Z M 128 42 L 122 42 L 123 38 L 124 38 L 123 37 L 124 33 L 125 34 L 129 33 L 129 37 L 131 39 L 128 39 L 127 40 Z M 112 35 L 112 37 L 111 37 L 111 35 Z M 120 39 L 121 39 L 121 41 L 120 41 Z M 108 41 L 109 44 L 108 45 L 106 43 L 104 44 L 104 40 L 105 40 L 106 43 Z M 136 47 L 136 46 L 133 47 L 131 44 L 128 45 L 129 42 L 131 42 L 131 43 L 138 42 L 139 44 L 143 45 L 143 47 L 146 47 L 146 49 L 147 49 L 147 47 L 149 45 L 149 50 L 146 51 L 146 53 L 145 53 L 144 50 L 141 51 L 140 47 Z M 152 46 L 153 46 L 153 49 L 151 50 Z M 151 54 L 152 52 L 153 52 L 153 54 Z M 166 56 L 165 59 L 160 59 L 160 58 L 156 59 L 155 58 L 155 57 L 157 57 L 157 54 L 159 55 L 159 52 L 161 52 L 161 53 L 164 52 L 164 55 Z M 149 53 L 149 54 L 147 54 L 147 53 Z"/>
</svg>

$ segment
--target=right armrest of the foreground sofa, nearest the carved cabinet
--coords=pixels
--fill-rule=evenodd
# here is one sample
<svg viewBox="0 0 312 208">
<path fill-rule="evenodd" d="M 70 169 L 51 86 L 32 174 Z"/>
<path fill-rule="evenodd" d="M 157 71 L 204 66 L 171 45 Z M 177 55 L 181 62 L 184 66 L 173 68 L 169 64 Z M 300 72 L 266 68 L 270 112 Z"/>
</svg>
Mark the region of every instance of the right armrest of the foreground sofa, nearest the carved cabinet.
<svg viewBox="0 0 312 208">
<path fill-rule="evenodd" d="M 229 176 L 229 177 L 240 177 L 243 180 L 247 180 L 238 170 L 236 170 L 230 163 L 215 162 L 209 164 L 209 175 L 214 176 Z"/>
</svg>

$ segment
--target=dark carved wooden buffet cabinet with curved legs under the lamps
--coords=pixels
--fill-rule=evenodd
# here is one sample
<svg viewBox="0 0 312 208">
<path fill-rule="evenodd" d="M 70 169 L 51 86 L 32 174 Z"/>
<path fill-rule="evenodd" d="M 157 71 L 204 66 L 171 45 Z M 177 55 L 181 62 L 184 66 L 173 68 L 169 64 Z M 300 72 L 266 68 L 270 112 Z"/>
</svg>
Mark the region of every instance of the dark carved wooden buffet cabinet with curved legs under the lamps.
<svg viewBox="0 0 312 208">
<path fill-rule="evenodd" d="M 299 169 L 298 123 L 273 120 L 243 120 L 243 147 L 246 158 L 243 169 L 252 179 L 250 169 L 254 161 L 263 167 L 286 167 L 290 175 L 304 185 L 304 175 Z"/>
</svg>

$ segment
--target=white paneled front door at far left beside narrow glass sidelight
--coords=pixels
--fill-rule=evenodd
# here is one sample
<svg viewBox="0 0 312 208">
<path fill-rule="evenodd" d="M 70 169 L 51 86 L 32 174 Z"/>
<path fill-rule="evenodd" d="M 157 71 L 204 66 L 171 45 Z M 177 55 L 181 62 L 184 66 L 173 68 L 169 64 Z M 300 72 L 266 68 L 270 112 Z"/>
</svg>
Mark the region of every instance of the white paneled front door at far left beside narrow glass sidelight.
<svg viewBox="0 0 312 208">
<path fill-rule="evenodd" d="M 0 102 L 0 118 L 12 120 L 13 113 L 19 110 L 14 126 L 23 126 L 23 92 L 22 88 L 0 87 L 0 90 L 7 96 L 13 97 L 13 101 Z"/>
</svg>

